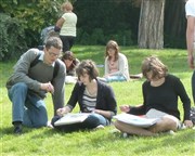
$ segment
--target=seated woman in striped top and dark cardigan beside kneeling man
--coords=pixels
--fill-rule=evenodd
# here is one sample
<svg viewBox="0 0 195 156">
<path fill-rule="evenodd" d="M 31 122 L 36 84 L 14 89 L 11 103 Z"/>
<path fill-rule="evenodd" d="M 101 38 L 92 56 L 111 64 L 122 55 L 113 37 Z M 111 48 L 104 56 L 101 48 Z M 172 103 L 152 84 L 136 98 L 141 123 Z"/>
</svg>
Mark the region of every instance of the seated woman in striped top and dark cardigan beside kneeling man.
<svg viewBox="0 0 195 156">
<path fill-rule="evenodd" d="M 117 103 L 113 89 L 96 79 L 99 72 L 95 64 L 82 61 L 76 68 L 79 81 L 75 84 L 67 105 L 57 109 L 57 115 L 52 119 L 54 128 L 64 131 L 103 128 L 110 123 L 112 117 L 117 113 Z M 91 113 L 83 122 L 54 126 L 63 115 L 70 113 L 76 104 L 81 113 Z"/>
</svg>

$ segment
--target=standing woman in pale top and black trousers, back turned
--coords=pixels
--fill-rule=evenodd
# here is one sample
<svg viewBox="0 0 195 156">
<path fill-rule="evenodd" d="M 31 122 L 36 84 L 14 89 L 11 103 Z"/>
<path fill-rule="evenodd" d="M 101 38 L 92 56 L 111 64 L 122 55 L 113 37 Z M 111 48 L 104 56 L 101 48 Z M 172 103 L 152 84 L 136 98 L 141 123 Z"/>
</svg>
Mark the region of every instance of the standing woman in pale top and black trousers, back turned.
<svg viewBox="0 0 195 156">
<path fill-rule="evenodd" d="M 73 12 L 73 4 L 65 2 L 62 4 L 64 14 L 56 22 L 55 31 L 60 31 L 60 38 L 63 41 L 63 52 L 69 51 L 76 38 L 77 15 Z"/>
</svg>

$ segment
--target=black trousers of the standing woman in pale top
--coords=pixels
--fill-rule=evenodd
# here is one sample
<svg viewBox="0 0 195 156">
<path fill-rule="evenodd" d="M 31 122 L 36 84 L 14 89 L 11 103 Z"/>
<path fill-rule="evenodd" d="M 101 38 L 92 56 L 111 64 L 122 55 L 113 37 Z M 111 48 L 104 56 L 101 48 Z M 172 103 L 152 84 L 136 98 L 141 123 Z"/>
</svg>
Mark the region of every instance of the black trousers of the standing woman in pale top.
<svg viewBox="0 0 195 156">
<path fill-rule="evenodd" d="M 66 51 L 70 51 L 74 42 L 75 42 L 75 38 L 73 36 L 60 36 L 62 42 L 63 42 L 63 52 Z"/>
</svg>

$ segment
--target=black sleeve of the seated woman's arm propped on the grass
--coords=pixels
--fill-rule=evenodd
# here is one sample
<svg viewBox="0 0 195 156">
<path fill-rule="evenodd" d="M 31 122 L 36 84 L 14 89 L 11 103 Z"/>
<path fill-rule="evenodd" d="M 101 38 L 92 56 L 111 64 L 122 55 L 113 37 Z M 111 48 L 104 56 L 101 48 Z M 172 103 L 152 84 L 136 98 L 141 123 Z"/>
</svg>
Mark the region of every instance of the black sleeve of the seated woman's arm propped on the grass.
<svg viewBox="0 0 195 156">
<path fill-rule="evenodd" d="M 190 119 L 190 109 L 191 109 L 191 100 L 185 91 L 183 83 L 181 82 L 181 80 L 179 78 L 176 78 L 174 89 L 176 89 L 177 94 L 180 96 L 180 99 L 183 103 L 183 110 L 184 110 L 183 120 L 188 120 Z"/>
</svg>

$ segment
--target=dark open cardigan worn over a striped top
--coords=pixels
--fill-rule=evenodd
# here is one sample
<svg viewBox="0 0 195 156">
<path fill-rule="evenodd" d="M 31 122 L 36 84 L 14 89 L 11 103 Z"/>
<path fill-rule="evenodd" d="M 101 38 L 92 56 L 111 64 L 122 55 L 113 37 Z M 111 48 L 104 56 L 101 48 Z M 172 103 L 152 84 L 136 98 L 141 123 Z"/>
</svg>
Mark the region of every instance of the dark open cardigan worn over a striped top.
<svg viewBox="0 0 195 156">
<path fill-rule="evenodd" d="M 115 99 L 115 94 L 113 89 L 96 80 L 98 81 L 98 95 L 96 95 L 96 109 L 109 110 L 113 115 L 117 113 L 117 103 Z M 67 103 L 72 109 L 76 106 L 77 102 L 79 104 L 80 110 L 84 112 L 84 107 L 82 104 L 82 96 L 84 92 L 86 86 L 81 82 L 77 82 L 74 87 L 72 92 L 70 99 Z M 110 120 L 110 119 L 109 119 Z"/>
</svg>

